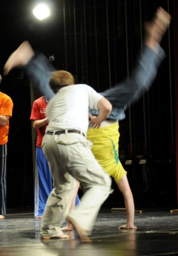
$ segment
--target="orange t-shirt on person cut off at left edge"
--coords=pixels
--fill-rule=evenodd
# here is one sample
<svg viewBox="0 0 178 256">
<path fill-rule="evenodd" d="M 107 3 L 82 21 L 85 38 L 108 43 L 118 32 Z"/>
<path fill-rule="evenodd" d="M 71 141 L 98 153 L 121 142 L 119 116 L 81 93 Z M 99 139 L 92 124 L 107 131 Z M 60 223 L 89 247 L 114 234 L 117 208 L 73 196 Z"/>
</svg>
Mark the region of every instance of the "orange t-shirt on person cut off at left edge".
<svg viewBox="0 0 178 256">
<path fill-rule="evenodd" d="M 13 102 L 11 98 L 3 92 L 0 92 L 0 115 L 10 116 L 12 115 Z M 9 122 L 2 127 L 0 125 L 0 145 L 8 142 Z"/>
</svg>

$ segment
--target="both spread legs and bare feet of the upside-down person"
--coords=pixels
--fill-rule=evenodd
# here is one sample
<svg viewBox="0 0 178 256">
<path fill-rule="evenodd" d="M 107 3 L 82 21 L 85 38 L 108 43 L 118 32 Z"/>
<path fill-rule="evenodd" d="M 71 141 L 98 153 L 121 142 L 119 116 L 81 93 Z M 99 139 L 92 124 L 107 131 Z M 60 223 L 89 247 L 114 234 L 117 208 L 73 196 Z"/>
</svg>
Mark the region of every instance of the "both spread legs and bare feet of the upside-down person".
<svg viewBox="0 0 178 256">
<path fill-rule="evenodd" d="M 159 47 L 159 43 L 168 29 L 170 20 L 171 17 L 169 13 L 163 10 L 163 8 L 158 8 L 154 19 L 152 19 L 151 22 L 147 22 L 145 25 L 144 43 L 146 47 L 144 51 L 141 52 L 142 54 L 140 54 L 141 56 L 138 58 L 137 65 L 135 65 L 133 72 L 131 72 L 130 79 L 128 79 L 127 82 L 116 84 L 109 90 L 103 92 L 103 96 L 110 100 L 113 108 L 125 109 L 127 106 L 137 101 L 142 96 L 143 91 L 149 90 L 158 72 L 158 67 L 165 56 L 163 50 Z M 4 74 L 8 74 L 12 68 L 23 66 L 26 70 L 29 69 L 29 76 L 33 77 L 33 79 L 38 79 L 38 73 L 35 72 L 36 68 L 30 70 L 28 65 L 25 67 L 33 56 L 34 51 L 29 42 L 23 42 L 20 47 L 11 54 L 8 61 L 6 61 Z M 40 79 L 43 79 L 43 77 L 45 79 L 38 81 L 36 86 L 43 95 L 46 95 L 47 98 L 50 99 L 54 93 L 50 90 L 46 77 L 48 76 L 48 71 L 51 70 L 50 68 L 54 69 L 54 67 L 52 67 L 50 61 L 47 61 L 47 59 L 43 57 L 41 57 L 43 61 L 33 62 L 33 66 L 34 64 L 36 65 L 36 63 L 38 64 L 37 70 L 39 64 L 40 68 L 42 68 L 41 71 L 46 70 L 43 76 L 40 76 Z"/>
</svg>

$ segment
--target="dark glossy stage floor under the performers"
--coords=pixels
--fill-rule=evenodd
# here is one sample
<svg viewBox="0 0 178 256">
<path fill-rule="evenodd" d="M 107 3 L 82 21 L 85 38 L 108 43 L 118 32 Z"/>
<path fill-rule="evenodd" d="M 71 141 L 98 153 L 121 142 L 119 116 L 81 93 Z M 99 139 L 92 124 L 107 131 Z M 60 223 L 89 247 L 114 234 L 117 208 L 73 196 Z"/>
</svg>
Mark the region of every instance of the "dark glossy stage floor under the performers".
<svg viewBox="0 0 178 256">
<path fill-rule="evenodd" d="M 124 211 L 101 209 L 91 239 L 84 244 L 75 231 L 70 240 L 40 240 L 40 223 L 33 212 L 18 209 L 0 221 L 1 256 L 157 256 L 178 255 L 178 212 L 145 209 L 135 213 L 136 231 L 121 231 Z"/>
</svg>

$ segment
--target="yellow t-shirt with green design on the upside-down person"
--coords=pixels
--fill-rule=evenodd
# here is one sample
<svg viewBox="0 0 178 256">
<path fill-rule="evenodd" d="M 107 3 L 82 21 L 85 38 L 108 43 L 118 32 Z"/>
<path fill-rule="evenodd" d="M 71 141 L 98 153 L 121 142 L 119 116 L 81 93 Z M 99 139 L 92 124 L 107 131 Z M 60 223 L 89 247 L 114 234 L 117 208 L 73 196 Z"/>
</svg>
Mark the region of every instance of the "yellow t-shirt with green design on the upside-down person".
<svg viewBox="0 0 178 256">
<path fill-rule="evenodd" d="M 98 129 L 88 129 L 87 140 L 93 143 L 91 150 L 98 163 L 101 164 L 108 175 L 114 178 L 115 182 L 119 182 L 127 172 L 119 161 L 118 122 Z"/>
</svg>

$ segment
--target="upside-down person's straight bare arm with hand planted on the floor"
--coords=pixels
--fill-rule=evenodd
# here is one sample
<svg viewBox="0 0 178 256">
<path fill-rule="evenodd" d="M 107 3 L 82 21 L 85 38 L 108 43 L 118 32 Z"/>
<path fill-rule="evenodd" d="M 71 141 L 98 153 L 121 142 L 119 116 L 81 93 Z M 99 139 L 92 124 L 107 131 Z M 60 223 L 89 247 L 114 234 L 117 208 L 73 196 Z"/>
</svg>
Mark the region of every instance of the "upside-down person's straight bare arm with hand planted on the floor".
<svg viewBox="0 0 178 256">
<path fill-rule="evenodd" d="M 131 193 L 130 185 L 128 183 L 128 178 L 124 175 L 121 180 L 117 183 L 119 190 L 122 192 L 124 196 L 124 202 L 126 206 L 126 225 L 122 225 L 119 229 L 137 229 L 134 225 L 134 212 L 135 206 L 133 202 L 133 195 Z"/>
</svg>

